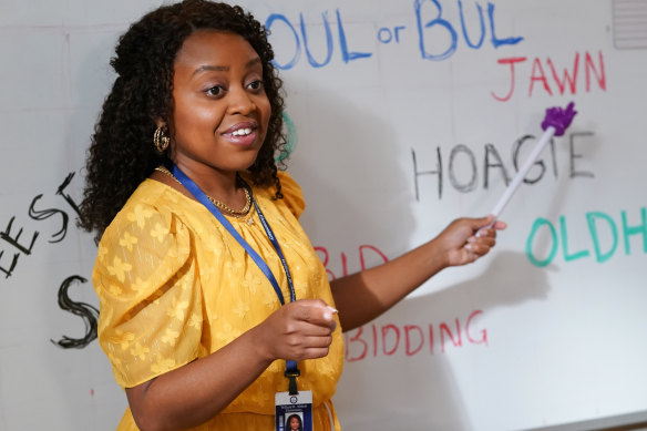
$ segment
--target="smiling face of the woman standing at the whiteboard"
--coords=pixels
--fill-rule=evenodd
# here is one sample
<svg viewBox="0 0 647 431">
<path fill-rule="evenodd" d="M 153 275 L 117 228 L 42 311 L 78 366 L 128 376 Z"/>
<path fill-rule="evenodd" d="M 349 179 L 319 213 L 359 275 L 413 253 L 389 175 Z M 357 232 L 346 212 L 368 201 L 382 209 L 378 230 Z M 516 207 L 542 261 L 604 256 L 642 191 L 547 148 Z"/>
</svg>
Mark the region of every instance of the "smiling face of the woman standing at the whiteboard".
<svg viewBox="0 0 647 431">
<path fill-rule="evenodd" d="M 174 68 L 173 161 L 196 182 L 249 167 L 270 116 L 256 51 L 238 34 L 202 30 Z"/>
</svg>

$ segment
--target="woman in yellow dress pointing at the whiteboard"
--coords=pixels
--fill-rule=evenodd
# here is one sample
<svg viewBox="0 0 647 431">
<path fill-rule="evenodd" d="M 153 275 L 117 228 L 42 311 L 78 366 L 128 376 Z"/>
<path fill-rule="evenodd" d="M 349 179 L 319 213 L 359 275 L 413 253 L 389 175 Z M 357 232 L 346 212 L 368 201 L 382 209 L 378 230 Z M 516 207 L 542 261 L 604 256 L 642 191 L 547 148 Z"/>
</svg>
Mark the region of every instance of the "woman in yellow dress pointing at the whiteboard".
<svg viewBox="0 0 647 431">
<path fill-rule="evenodd" d="M 162 7 L 120 39 L 81 208 L 101 238 L 99 339 L 130 406 L 120 430 L 271 429 L 295 362 L 314 428 L 339 430 L 340 327 L 486 254 L 503 228 L 476 236 L 490 218 L 455 220 L 329 285 L 297 220 L 301 192 L 275 164 L 285 137 L 273 57 L 250 14 L 204 0 Z"/>
</svg>

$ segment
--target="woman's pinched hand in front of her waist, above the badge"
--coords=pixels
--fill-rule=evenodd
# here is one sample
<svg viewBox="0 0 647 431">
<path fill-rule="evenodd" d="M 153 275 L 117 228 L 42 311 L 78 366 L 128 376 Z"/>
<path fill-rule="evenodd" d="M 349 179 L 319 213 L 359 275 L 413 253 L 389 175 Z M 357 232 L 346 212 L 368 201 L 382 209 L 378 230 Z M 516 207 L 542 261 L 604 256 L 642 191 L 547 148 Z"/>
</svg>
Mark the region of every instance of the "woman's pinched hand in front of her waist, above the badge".
<svg viewBox="0 0 647 431">
<path fill-rule="evenodd" d="M 300 361 L 328 355 L 336 310 L 320 299 L 301 299 L 273 312 L 256 327 L 259 346 L 269 360 Z"/>
</svg>

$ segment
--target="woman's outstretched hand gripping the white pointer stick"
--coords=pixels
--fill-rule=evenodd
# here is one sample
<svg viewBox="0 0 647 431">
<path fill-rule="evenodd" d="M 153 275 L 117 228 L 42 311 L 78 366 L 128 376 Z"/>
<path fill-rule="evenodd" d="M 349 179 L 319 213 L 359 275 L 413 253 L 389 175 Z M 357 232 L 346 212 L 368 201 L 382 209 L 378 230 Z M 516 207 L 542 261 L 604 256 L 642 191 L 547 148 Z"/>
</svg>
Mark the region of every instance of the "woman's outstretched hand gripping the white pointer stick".
<svg viewBox="0 0 647 431">
<path fill-rule="evenodd" d="M 435 237 L 438 246 L 444 252 L 446 266 L 470 264 L 486 255 L 496 244 L 496 230 L 506 224 L 494 222 L 493 216 L 482 218 L 458 218 Z"/>
</svg>

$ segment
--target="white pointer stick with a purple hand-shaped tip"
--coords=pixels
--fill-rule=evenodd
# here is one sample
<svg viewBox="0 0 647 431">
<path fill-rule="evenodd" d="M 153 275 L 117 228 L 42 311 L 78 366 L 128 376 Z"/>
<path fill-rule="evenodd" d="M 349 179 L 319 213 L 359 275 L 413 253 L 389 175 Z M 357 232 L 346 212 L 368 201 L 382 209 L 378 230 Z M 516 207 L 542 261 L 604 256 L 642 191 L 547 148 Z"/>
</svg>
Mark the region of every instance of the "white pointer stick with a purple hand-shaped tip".
<svg viewBox="0 0 647 431">
<path fill-rule="evenodd" d="M 490 228 L 494 226 L 496 218 L 499 218 L 499 216 L 503 212 L 503 208 L 505 208 L 505 205 L 507 205 L 512 195 L 514 194 L 514 192 L 516 192 L 521 182 L 526 176 L 532 165 L 535 163 L 535 161 L 540 156 L 540 153 L 542 152 L 542 150 L 544 150 L 551 137 L 553 137 L 553 135 L 562 136 L 566 129 L 568 129 L 571 122 L 573 121 L 573 117 L 575 116 L 575 114 L 577 114 L 577 111 L 575 111 L 573 106 L 575 106 L 575 104 L 571 102 L 568 103 L 568 106 L 566 106 L 566 110 L 563 110 L 562 107 L 548 107 L 546 110 L 546 116 L 542 122 L 542 129 L 544 130 L 544 134 L 535 144 L 535 147 L 533 148 L 533 151 L 524 162 L 523 166 L 518 170 L 518 172 L 516 173 L 516 175 L 514 176 L 514 178 L 512 179 L 512 182 L 510 183 L 510 185 L 507 186 L 507 188 L 505 189 L 505 192 L 494 206 L 494 209 L 492 209 L 491 214 L 494 216 L 492 223 L 484 228 Z M 479 236 L 479 233 L 476 233 L 476 236 Z"/>
</svg>

